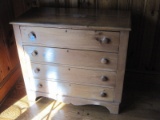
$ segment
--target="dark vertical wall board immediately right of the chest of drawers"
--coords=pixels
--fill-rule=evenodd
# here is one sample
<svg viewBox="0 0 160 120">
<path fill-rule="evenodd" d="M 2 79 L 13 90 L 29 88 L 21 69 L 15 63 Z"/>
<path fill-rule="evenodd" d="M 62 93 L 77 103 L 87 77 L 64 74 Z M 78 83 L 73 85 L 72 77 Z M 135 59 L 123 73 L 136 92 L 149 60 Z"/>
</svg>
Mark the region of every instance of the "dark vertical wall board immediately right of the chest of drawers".
<svg viewBox="0 0 160 120">
<path fill-rule="evenodd" d="M 127 69 L 140 70 L 140 51 L 142 47 L 143 31 L 144 31 L 144 9 L 146 0 L 132 0 L 131 2 L 131 18 L 132 31 L 130 32 L 130 40 L 128 46 Z"/>
</svg>

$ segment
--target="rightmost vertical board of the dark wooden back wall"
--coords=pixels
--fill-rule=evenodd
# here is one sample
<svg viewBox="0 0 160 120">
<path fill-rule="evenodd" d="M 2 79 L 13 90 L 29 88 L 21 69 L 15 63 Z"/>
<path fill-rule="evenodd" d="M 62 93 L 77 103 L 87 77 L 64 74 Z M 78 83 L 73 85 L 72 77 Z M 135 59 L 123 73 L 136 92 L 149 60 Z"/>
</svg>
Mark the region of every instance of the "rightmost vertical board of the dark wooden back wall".
<svg viewBox="0 0 160 120">
<path fill-rule="evenodd" d="M 154 63 L 154 60 L 151 58 L 152 55 L 154 54 L 153 47 L 155 41 L 156 24 L 158 22 L 158 16 L 159 16 L 158 12 L 159 4 L 160 4 L 159 0 L 154 0 L 154 1 L 148 0 L 146 3 L 146 10 L 144 13 L 145 21 L 144 21 L 143 34 L 145 34 L 145 36 L 142 39 L 140 66 L 141 68 L 144 68 L 146 70 L 152 70 L 152 63 Z"/>
</svg>

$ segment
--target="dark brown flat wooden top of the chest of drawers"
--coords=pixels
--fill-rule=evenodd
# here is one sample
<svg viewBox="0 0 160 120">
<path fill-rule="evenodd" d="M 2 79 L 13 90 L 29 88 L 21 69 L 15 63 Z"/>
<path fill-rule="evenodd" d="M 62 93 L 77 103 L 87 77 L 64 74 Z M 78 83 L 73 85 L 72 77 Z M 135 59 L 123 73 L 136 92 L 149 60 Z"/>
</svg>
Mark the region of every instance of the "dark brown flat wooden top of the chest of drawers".
<svg viewBox="0 0 160 120">
<path fill-rule="evenodd" d="M 130 13 L 76 8 L 34 8 L 11 24 L 96 30 L 130 30 Z"/>
</svg>

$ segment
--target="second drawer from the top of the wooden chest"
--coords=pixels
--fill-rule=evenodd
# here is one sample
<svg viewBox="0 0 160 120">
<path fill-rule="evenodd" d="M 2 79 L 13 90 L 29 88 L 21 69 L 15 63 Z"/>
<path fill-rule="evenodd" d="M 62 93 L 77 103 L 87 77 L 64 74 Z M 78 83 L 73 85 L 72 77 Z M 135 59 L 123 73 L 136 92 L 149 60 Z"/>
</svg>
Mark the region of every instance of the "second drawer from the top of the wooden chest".
<svg viewBox="0 0 160 120">
<path fill-rule="evenodd" d="M 57 63 L 97 69 L 117 69 L 117 54 L 46 47 L 24 46 L 26 56 L 34 62 Z"/>
</svg>

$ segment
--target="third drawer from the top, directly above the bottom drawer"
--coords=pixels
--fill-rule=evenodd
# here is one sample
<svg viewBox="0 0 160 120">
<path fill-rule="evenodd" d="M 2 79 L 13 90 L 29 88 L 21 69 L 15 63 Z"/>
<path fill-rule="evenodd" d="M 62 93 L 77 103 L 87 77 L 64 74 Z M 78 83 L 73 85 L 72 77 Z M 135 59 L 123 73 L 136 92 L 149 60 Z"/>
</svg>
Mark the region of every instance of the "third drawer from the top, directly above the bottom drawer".
<svg viewBox="0 0 160 120">
<path fill-rule="evenodd" d="M 101 86 L 115 86 L 116 73 L 105 70 L 87 70 L 58 65 L 31 64 L 32 75 L 38 79 L 51 81 L 66 81 L 79 84 L 93 84 Z"/>
</svg>

